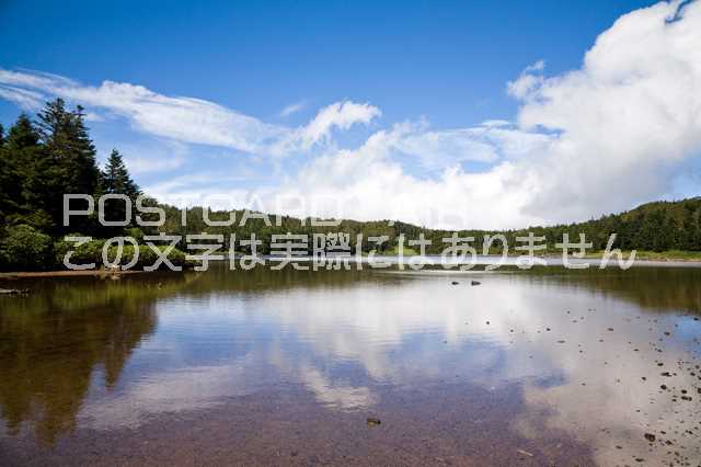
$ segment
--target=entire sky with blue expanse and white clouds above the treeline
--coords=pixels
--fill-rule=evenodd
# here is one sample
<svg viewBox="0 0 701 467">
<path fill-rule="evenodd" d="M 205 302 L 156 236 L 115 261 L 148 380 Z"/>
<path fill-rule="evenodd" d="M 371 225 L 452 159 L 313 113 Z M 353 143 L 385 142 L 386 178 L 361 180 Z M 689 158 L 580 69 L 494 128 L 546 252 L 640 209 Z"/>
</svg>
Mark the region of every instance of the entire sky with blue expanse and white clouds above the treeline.
<svg viewBox="0 0 701 467">
<path fill-rule="evenodd" d="M 0 1 L 0 122 L 61 96 L 160 201 L 440 228 L 701 195 L 701 4 Z"/>
</svg>

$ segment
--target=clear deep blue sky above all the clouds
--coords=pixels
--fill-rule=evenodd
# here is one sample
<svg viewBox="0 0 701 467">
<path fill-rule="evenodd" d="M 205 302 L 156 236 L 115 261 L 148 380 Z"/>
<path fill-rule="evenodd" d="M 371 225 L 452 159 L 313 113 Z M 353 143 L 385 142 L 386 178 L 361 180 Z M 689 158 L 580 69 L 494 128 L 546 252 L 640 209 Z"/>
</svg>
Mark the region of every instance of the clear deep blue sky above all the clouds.
<svg viewBox="0 0 701 467">
<path fill-rule="evenodd" d="M 514 114 L 504 83 L 526 66 L 575 68 L 618 16 L 653 2 L 378 3 L 10 0 L 0 7 L 0 62 L 138 83 L 260 118 L 303 101 L 302 122 L 353 99 L 390 121 L 472 125 Z M 16 113 L 4 104 L 2 122 Z"/>
</svg>

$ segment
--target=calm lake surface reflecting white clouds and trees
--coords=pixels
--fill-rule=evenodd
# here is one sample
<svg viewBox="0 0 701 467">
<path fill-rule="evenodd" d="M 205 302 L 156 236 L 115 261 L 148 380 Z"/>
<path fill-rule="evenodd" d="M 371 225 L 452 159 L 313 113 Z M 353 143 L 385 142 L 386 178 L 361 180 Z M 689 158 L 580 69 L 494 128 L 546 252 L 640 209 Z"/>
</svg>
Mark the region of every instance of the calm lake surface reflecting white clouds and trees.
<svg viewBox="0 0 701 467">
<path fill-rule="evenodd" d="M 0 287 L 0 465 L 701 464 L 700 269 Z"/>
</svg>

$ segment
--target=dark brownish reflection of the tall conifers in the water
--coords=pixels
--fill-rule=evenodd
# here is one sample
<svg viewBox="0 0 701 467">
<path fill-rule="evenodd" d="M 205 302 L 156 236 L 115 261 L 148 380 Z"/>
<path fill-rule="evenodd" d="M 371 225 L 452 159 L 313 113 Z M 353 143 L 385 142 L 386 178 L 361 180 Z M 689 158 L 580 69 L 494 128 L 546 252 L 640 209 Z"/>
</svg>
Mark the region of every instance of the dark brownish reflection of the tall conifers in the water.
<svg viewBox="0 0 701 467">
<path fill-rule="evenodd" d="M 113 387 L 156 330 L 152 298 L 166 292 L 157 284 L 43 281 L 23 284 L 35 291 L 27 297 L 0 301 L 0 409 L 10 435 L 25 420 L 49 444 L 76 429 L 94 371 Z"/>
</svg>

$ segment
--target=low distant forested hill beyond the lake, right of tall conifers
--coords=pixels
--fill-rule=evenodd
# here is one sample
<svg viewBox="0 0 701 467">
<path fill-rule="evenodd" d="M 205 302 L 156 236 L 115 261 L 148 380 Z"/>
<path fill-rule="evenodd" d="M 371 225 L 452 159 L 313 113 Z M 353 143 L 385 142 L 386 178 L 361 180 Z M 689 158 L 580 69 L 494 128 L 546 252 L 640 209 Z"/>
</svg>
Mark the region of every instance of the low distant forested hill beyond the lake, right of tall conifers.
<svg viewBox="0 0 701 467">
<path fill-rule="evenodd" d="M 249 220 L 244 227 L 208 227 L 202 220 L 202 208 L 192 208 L 187 213 L 187 227 L 182 228 L 180 223 L 180 210 L 173 206 L 161 205 L 166 210 L 169 223 L 162 228 L 163 231 L 173 232 L 200 232 L 209 234 L 231 234 L 235 232 L 237 238 L 250 238 L 251 232 L 263 241 L 258 252 L 269 251 L 271 236 L 273 234 L 322 234 L 329 231 L 340 231 L 350 234 L 350 242 L 355 244 L 356 235 L 364 236 L 364 250 L 375 249 L 371 243 L 367 243 L 369 236 L 388 236 L 389 240 L 378 248 L 379 252 L 393 250 L 398 243 L 400 235 L 404 235 L 406 240 L 417 239 L 423 234 L 432 241 L 427 247 L 427 253 L 440 253 L 446 244 L 444 238 L 450 237 L 452 231 L 429 229 L 407 223 L 389 220 L 358 221 L 342 220 L 338 227 L 312 227 L 311 219 L 304 221 L 283 216 L 281 226 L 266 226 L 260 219 Z M 243 212 L 237 212 L 237 219 L 240 219 Z M 229 214 L 225 212 L 212 213 L 212 219 L 226 219 Z M 271 216 L 273 220 L 273 216 Z M 516 247 L 516 237 L 526 236 L 532 231 L 536 236 L 545 237 L 545 243 L 551 250 L 554 244 L 562 241 L 563 234 L 570 235 L 571 241 L 576 241 L 579 234 L 585 234 L 586 240 L 593 242 L 594 250 L 604 250 L 611 234 L 617 234 L 616 248 L 623 250 L 646 250 L 646 251 L 669 251 L 686 250 L 701 251 L 701 197 L 694 197 L 675 202 L 654 202 L 641 205 L 634 209 L 604 216 L 584 223 L 573 223 L 568 225 L 555 225 L 549 227 L 528 227 L 516 230 L 461 230 L 461 237 L 474 237 L 478 251 L 481 251 L 482 241 L 485 235 L 504 235 L 508 240 L 510 249 Z M 366 244 L 367 243 L 367 244 Z M 497 248 L 497 250 L 499 250 Z"/>
</svg>

